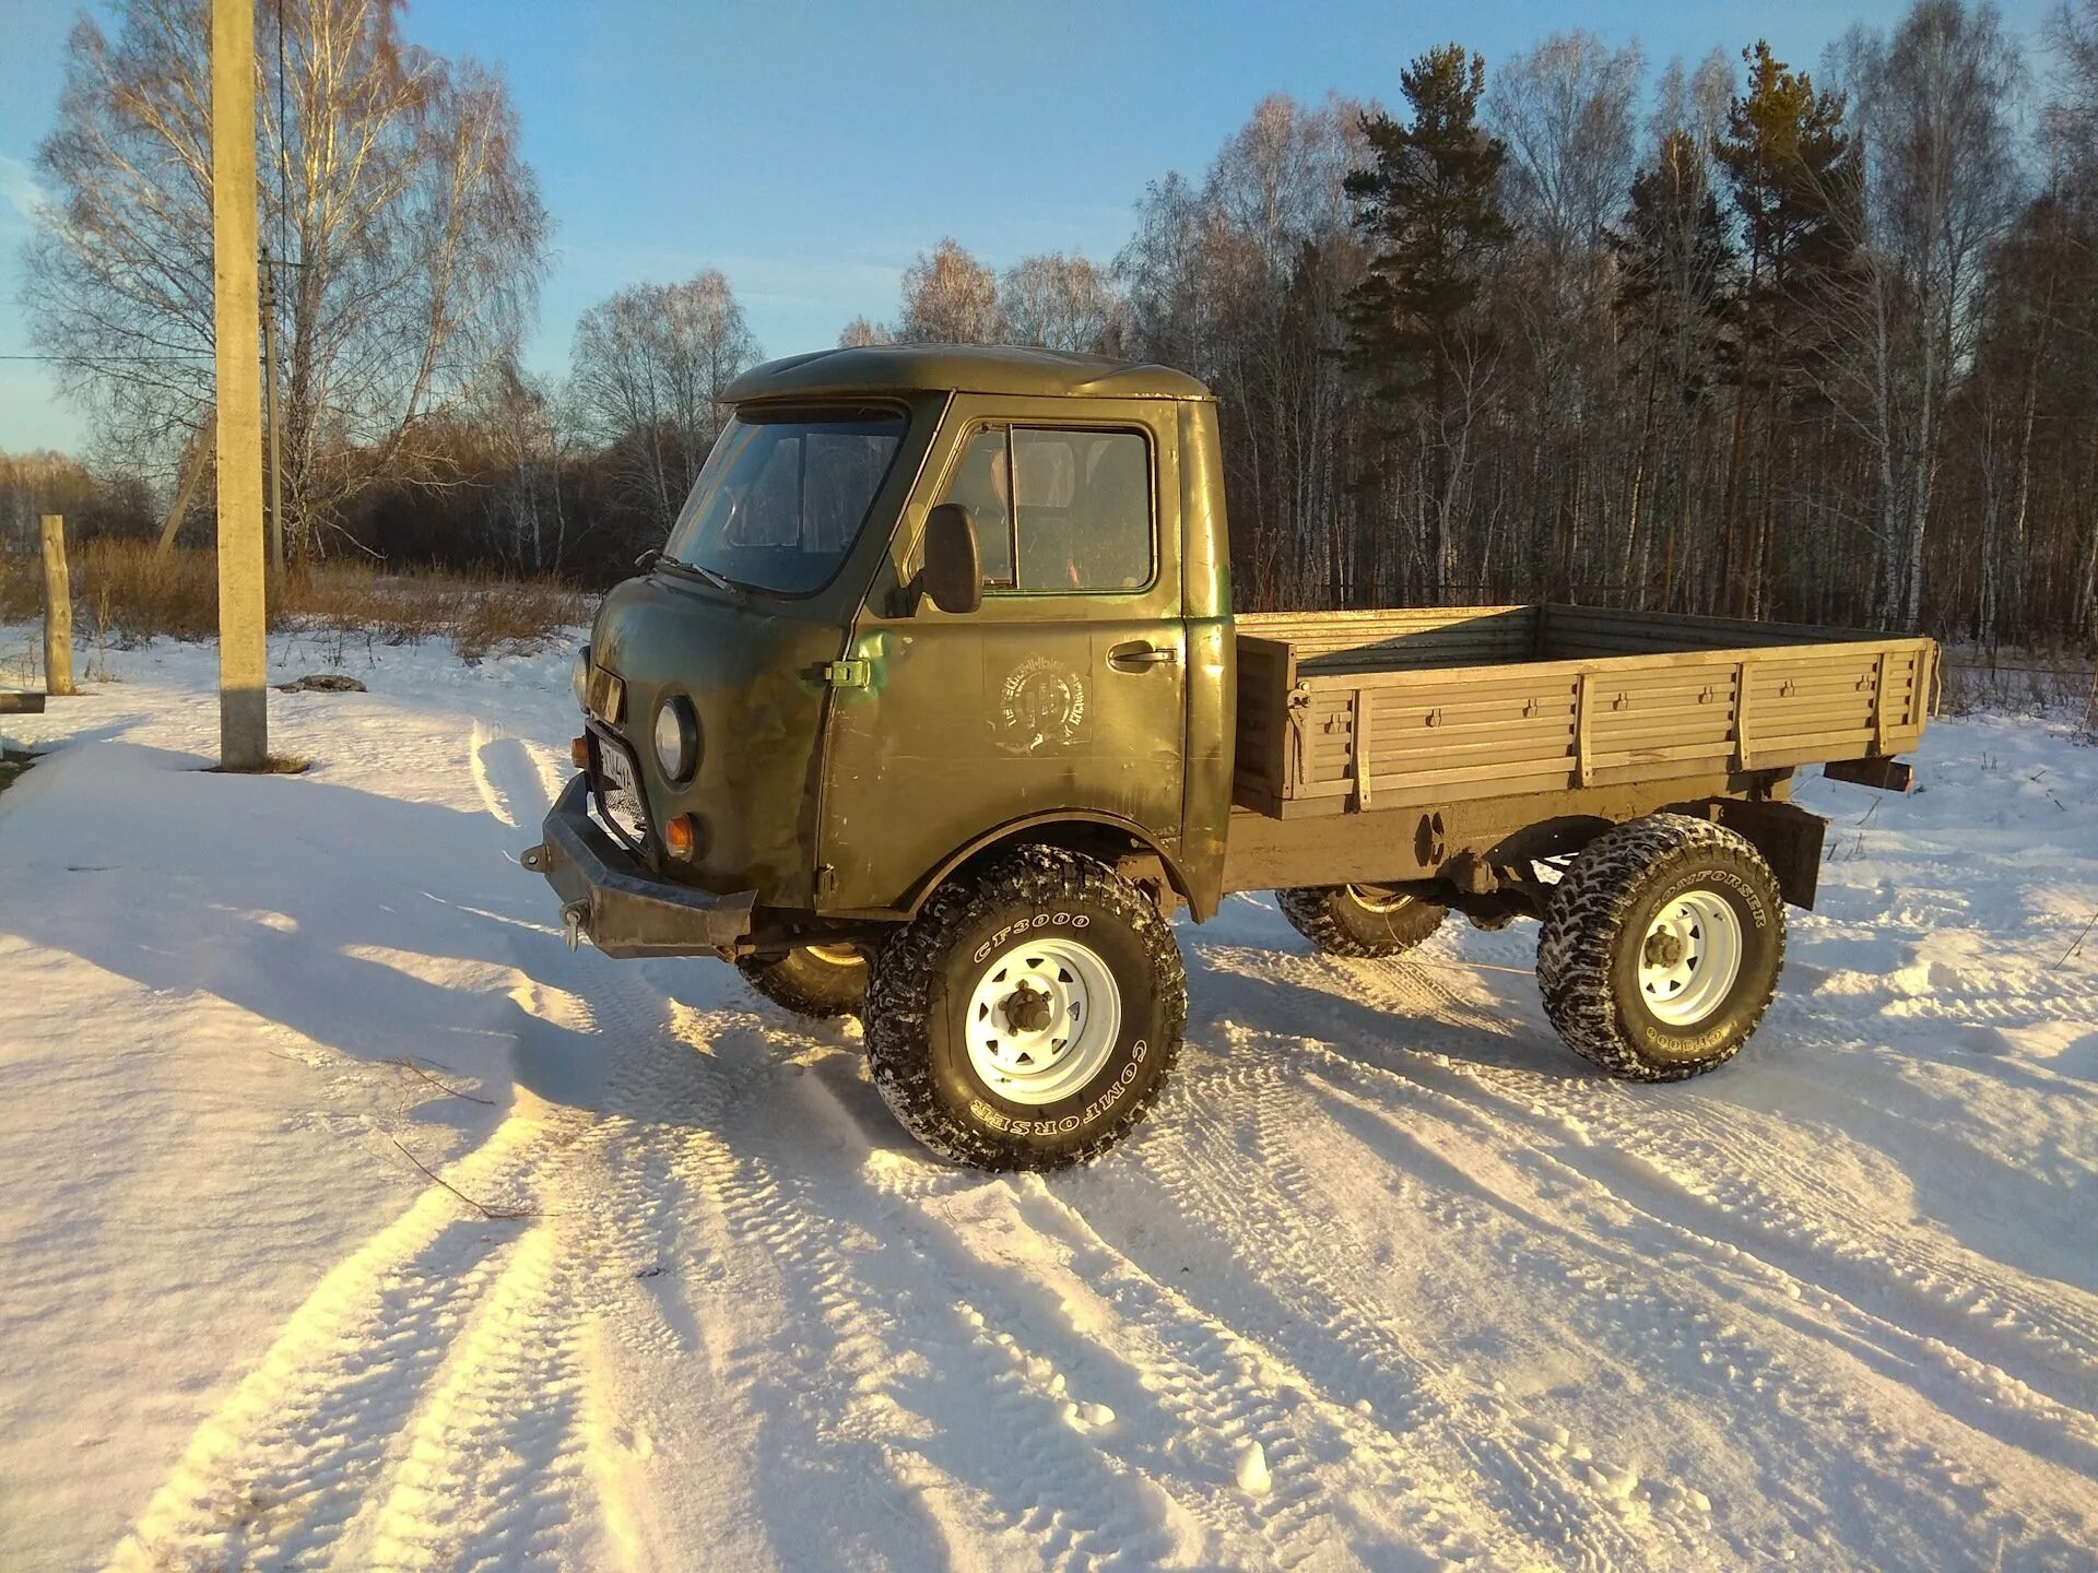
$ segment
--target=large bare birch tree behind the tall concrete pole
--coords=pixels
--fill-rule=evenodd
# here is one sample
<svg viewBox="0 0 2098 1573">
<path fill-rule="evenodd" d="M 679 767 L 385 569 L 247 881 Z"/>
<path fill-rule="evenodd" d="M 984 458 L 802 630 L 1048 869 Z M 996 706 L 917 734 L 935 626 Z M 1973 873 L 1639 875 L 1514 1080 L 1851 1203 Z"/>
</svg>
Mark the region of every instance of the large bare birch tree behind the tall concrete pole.
<svg viewBox="0 0 2098 1573">
<path fill-rule="evenodd" d="M 279 34 L 279 17 L 283 31 Z M 25 304 L 101 436 L 187 440 L 212 396 L 206 0 L 120 0 L 67 40 Z M 277 252 L 296 552 L 516 346 L 550 220 L 501 78 L 401 36 L 401 0 L 256 6 L 258 222 Z M 279 111 L 281 107 L 281 111 Z"/>
</svg>

